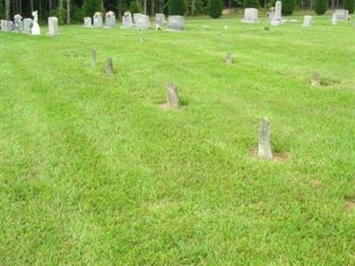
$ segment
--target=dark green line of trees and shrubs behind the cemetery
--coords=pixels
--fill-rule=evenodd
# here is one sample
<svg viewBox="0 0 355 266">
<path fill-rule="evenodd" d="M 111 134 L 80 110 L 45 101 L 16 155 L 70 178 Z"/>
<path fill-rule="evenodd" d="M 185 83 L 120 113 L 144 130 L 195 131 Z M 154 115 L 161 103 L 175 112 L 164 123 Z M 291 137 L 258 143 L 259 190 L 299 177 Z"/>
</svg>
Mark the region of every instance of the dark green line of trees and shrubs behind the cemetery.
<svg viewBox="0 0 355 266">
<path fill-rule="evenodd" d="M 59 22 L 81 23 L 83 17 L 92 16 L 94 12 L 113 11 L 116 16 L 123 12 L 142 12 L 147 15 L 155 13 L 199 15 L 209 14 L 217 18 L 223 9 L 242 7 L 267 8 L 276 0 L 0 0 L 0 17 L 12 20 L 15 14 L 31 17 L 32 11 L 39 12 L 39 19 L 45 21 L 49 16 L 59 17 Z M 295 8 L 312 9 L 322 5 L 323 9 L 335 9 L 350 5 L 353 12 L 355 0 L 281 0 L 283 6 L 292 13 Z M 352 6 L 352 10 L 351 10 Z M 289 12 L 288 12 L 289 13 Z M 287 14 L 288 14 L 287 13 Z"/>
</svg>

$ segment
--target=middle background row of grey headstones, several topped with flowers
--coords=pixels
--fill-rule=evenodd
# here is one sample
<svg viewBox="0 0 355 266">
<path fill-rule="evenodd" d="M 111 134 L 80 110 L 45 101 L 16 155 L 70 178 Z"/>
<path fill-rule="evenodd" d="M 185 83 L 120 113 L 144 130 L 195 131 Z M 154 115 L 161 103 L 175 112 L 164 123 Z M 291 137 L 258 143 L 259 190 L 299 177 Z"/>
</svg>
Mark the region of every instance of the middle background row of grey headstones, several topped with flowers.
<svg viewBox="0 0 355 266">
<path fill-rule="evenodd" d="M 92 23 L 93 22 L 93 23 Z M 96 12 L 93 16 L 93 20 L 91 22 L 90 17 L 85 17 L 83 19 L 83 27 L 103 27 L 102 14 L 100 12 Z M 155 28 L 162 29 L 164 24 L 166 23 L 164 14 L 155 14 Z M 114 12 L 106 13 L 106 28 L 115 27 L 116 25 L 116 17 Z M 130 12 L 124 12 L 122 16 L 122 28 L 133 28 L 137 29 L 149 29 L 150 21 L 149 17 L 141 14 L 134 13 L 133 16 Z M 170 30 L 184 30 L 185 29 L 185 19 L 182 16 L 169 16 L 168 27 Z"/>
</svg>

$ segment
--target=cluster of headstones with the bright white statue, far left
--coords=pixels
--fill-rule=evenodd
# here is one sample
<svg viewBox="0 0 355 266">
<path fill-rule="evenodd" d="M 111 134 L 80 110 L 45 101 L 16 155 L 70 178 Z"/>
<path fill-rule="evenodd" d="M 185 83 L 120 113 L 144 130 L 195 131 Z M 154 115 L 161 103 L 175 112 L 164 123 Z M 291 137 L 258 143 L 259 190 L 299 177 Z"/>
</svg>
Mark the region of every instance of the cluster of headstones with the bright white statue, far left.
<svg viewBox="0 0 355 266">
<path fill-rule="evenodd" d="M 22 20 L 22 16 L 17 14 L 13 17 L 13 21 L 11 20 L 1 20 L 0 27 L 4 32 L 16 32 L 16 33 L 24 33 L 28 35 L 41 35 L 41 27 L 38 25 L 38 12 L 32 12 L 34 19 L 24 19 Z M 59 26 L 58 26 L 58 18 L 49 17 L 48 18 L 48 35 L 54 36 L 59 35 Z"/>
</svg>

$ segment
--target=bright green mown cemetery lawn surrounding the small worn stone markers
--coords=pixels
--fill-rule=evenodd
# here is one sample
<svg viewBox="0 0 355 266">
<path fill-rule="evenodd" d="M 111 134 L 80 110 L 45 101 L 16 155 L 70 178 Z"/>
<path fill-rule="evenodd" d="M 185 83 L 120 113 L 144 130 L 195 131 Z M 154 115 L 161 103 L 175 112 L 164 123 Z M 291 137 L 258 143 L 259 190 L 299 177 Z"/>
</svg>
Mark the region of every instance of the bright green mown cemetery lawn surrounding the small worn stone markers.
<svg viewBox="0 0 355 266">
<path fill-rule="evenodd" d="M 0 33 L 0 264 L 355 264 L 355 27 L 286 19 Z"/>
</svg>

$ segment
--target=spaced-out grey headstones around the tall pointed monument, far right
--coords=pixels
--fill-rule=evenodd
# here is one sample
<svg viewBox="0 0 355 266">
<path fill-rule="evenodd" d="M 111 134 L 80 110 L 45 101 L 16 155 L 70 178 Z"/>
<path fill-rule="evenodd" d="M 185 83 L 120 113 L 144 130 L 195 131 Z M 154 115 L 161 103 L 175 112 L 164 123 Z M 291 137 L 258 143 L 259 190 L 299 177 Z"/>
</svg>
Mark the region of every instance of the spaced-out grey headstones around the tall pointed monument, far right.
<svg viewBox="0 0 355 266">
<path fill-rule="evenodd" d="M 280 26 L 283 21 L 281 17 L 282 12 L 282 3 L 281 1 L 276 1 L 275 8 L 272 8 L 270 12 L 268 12 L 270 24 L 272 26 Z M 312 16 L 304 16 L 304 27 L 312 26 Z M 337 20 L 348 20 L 349 19 L 349 11 L 344 9 L 336 9 L 333 13 L 332 24 L 335 25 Z M 256 8 L 246 8 L 244 10 L 244 18 L 241 20 L 245 23 L 256 23 L 257 20 L 257 9 Z"/>
</svg>

